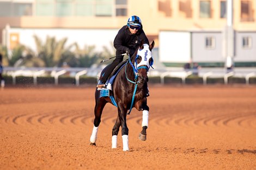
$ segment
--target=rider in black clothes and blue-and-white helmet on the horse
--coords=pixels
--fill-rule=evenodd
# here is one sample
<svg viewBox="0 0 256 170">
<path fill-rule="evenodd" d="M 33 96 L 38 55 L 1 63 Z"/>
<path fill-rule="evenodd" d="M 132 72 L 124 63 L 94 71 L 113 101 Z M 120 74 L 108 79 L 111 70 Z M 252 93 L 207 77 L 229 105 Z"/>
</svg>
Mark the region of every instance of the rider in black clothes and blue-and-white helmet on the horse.
<svg viewBox="0 0 256 170">
<path fill-rule="evenodd" d="M 123 61 L 124 56 L 121 54 L 126 53 L 127 55 L 132 56 L 142 40 L 149 45 L 149 40 L 142 28 L 141 18 L 133 15 L 128 19 L 127 25 L 123 26 L 119 30 L 117 36 L 115 36 L 114 47 L 117 49 L 117 57 L 111 64 L 104 68 L 105 73 L 102 74 L 97 83 L 99 89 L 102 89 L 105 86 L 105 83 L 114 68 Z"/>
</svg>

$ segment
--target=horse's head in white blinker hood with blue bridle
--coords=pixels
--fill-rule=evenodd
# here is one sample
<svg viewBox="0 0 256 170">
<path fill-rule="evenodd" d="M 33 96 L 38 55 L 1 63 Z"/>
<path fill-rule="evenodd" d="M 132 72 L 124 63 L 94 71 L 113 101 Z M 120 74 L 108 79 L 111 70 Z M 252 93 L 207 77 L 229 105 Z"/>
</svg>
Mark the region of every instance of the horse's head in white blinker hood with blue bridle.
<svg viewBox="0 0 256 170">
<path fill-rule="evenodd" d="M 154 45 L 154 41 L 151 43 L 151 45 L 148 45 L 147 43 L 144 44 L 144 42 L 142 41 L 139 45 L 137 54 L 135 53 L 136 57 L 134 61 L 134 66 L 137 70 L 139 83 L 144 83 L 148 80 L 147 72 L 149 71 L 149 68 L 153 65 L 154 62 L 151 53 Z"/>
</svg>

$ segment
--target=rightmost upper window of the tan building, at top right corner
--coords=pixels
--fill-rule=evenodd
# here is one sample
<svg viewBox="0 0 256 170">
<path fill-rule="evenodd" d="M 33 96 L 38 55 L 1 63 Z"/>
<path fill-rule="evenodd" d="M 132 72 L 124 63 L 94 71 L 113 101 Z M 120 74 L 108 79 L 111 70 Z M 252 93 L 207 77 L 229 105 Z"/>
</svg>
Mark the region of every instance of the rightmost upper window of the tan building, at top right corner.
<svg viewBox="0 0 256 170">
<path fill-rule="evenodd" d="M 254 21 L 251 1 L 241 1 L 241 21 Z"/>
</svg>

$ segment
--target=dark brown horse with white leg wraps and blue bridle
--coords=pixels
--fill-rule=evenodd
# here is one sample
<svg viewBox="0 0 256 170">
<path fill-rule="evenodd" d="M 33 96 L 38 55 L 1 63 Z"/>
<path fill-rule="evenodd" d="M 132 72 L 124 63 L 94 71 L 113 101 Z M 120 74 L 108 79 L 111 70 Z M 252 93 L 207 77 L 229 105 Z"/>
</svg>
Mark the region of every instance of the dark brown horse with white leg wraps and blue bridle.
<svg viewBox="0 0 256 170">
<path fill-rule="evenodd" d="M 101 114 L 107 103 L 116 105 L 118 116 L 112 129 L 112 148 L 117 148 L 117 135 L 121 127 L 123 138 L 123 150 L 129 151 L 128 133 L 126 124 L 126 115 L 130 114 L 132 108 L 142 111 L 142 131 L 139 133 L 139 139 L 147 139 L 149 106 L 147 105 L 148 93 L 148 71 L 153 65 L 152 49 L 155 42 L 151 45 L 140 43 L 136 52 L 127 60 L 126 64 L 120 68 L 117 77 L 112 84 L 114 101 L 110 97 L 100 97 L 100 91 L 95 90 L 95 108 L 94 108 L 94 127 L 90 136 L 90 145 L 96 145 L 97 131 L 101 122 Z M 153 67 L 152 67 L 153 68 Z M 103 72 L 103 71 L 102 71 Z M 102 73 L 101 73 L 102 74 Z M 129 113 L 127 113 L 127 111 Z"/>
</svg>

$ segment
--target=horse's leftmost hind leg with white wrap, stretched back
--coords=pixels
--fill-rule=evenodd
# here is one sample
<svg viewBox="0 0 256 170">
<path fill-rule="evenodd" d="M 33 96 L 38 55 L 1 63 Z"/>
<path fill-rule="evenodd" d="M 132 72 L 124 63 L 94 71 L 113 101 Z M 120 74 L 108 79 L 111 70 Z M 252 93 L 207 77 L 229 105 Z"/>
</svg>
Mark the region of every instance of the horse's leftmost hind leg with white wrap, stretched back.
<svg viewBox="0 0 256 170">
<path fill-rule="evenodd" d="M 93 132 L 92 135 L 90 136 L 90 145 L 96 145 L 96 138 L 97 138 L 97 131 L 101 122 L 101 114 L 104 106 L 106 105 L 106 100 L 105 99 L 96 99 L 96 104 L 94 108 L 94 125 L 93 125 Z"/>
</svg>

